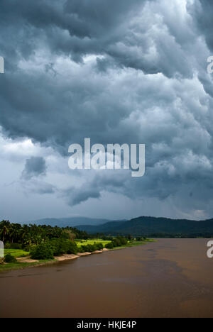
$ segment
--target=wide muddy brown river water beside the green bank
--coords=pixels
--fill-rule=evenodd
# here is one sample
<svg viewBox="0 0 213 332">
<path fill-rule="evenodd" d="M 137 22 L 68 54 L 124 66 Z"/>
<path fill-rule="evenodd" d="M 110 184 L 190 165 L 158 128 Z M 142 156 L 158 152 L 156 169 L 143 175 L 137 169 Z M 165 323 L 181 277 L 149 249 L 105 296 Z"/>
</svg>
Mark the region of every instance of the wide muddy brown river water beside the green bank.
<svg viewBox="0 0 213 332">
<path fill-rule="evenodd" d="M 0 317 L 212 317 L 207 240 L 158 243 L 0 275 Z"/>
</svg>

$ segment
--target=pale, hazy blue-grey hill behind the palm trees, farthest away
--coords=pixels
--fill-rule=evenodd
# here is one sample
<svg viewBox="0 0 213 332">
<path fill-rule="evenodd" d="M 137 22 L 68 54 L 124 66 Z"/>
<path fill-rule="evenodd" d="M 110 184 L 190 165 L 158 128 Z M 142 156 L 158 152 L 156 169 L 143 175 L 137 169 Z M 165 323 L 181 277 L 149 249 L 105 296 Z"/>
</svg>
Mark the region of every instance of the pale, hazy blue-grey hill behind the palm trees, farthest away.
<svg viewBox="0 0 213 332">
<path fill-rule="evenodd" d="M 123 220 L 124 221 L 124 220 Z M 108 223 L 107 219 L 99 219 L 99 218 L 86 218 L 86 217 L 70 217 L 70 218 L 45 218 L 39 219 L 35 221 L 29 221 L 28 224 L 35 225 L 50 225 L 50 226 L 58 226 L 58 227 L 75 227 L 81 225 L 91 225 L 97 226 L 102 225 L 103 223 Z M 113 221 L 116 223 L 116 221 Z"/>
</svg>

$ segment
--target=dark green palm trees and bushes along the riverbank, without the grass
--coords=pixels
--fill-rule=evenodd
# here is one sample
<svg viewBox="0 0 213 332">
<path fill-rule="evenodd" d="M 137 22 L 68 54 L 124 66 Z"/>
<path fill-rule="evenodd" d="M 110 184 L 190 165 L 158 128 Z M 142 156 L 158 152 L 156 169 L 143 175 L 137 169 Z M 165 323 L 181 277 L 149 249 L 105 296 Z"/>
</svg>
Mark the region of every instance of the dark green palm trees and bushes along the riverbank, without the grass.
<svg viewBox="0 0 213 332">
<path fill-rule="evenodd" d="M 37 225 L 21 225 L 19 223 L 10 223 L 9 221 L 1 221 L 0 223 L 0 240 L 4 242 L 6 249 L 23 249 L 30 252 L 31 258 L 35 260 L 51 260 L 55 256 L 63 254 L 77 254 L 89 252 L 104 248 L 102 243 L 81 245 L 77 247 L 75 240 L 87 240 L 88 238 L 102 238 L 109 240 L 106 248 L 113 249 L 127 245 L 129 240 L 133 240 L 132 236 L 104 236 L 103 234 L 88 235 L 85 231 L 79 231 L 77 228 L 58 226 L 37 226 Z M 134 240 L 141 240 L 137 238 Z M 16 262 L 16 258 L 12 255 L 6 255 L 4 262 Z"/>
</svg>

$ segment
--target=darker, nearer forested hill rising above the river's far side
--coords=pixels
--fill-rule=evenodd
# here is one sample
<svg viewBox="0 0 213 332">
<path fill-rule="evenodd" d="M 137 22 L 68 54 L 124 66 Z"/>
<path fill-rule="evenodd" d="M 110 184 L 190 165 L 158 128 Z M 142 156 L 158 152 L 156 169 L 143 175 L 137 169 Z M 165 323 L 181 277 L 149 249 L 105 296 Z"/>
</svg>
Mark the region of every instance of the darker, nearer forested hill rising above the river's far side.
<svg viewBox="0 0 213 332">
<path fill-rule="evenodd" d="M 111 221 L 99 226 L 79 225 L 87 233 L 132 236 L 213 236 L 213 219 L 191 221 L 187 219 L 154 218 L 141 216 L 130 221 Z"/>
</svg>

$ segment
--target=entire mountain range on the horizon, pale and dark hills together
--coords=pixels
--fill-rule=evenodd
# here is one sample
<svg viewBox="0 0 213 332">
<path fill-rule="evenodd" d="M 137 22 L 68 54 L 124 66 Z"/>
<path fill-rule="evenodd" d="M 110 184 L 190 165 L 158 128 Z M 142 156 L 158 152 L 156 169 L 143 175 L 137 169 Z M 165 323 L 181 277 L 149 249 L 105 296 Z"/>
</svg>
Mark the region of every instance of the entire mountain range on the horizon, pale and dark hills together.
<svg viewBox="0 0 213 332">
<path fill-rule="evenodd" d="M 141 216 L 129 221 L 109 221 L 101 218 L 71 217 L 45 218 L 30 223 L 35 225 L 50 225 L 58 227 L 76 227 L 89 234 L 104 233 L 106 235 L 132 236 L 206 236 L 213 237 L 213 219 L 193 221 L 187 219 L 155 218 Z"/>
</svg>

